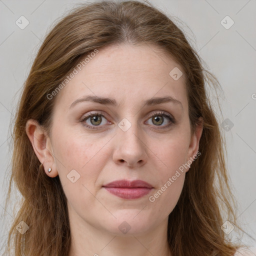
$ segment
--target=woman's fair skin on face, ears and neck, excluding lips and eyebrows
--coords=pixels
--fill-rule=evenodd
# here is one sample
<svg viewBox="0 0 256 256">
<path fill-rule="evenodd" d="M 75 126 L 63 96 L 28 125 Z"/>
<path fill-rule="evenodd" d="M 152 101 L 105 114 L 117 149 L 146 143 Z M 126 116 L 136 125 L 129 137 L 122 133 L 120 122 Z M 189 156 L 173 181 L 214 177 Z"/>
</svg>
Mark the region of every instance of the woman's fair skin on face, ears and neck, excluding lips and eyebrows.
<svg viewBox="0 0 256 256">
<path fill-rule="evenodd" d="M 202 132 L 202 126 L 195 133 L 190 131 L 185 78 L 174 80 L 169 75 L 174 67 L 182 70 L 157 46 L 107 46 L 55 96 L 49 136 L 35 120 L 27 121 L 26 133 L 46 175 L 59 175 L 67 197 L 69 256 L 171 255 L 167 219 L 189 168 L 154 202 L 149 196 L 196 154 Z M 86 95 L 111 97 L 117 105 L 82 101 L 70 107 Z M 180 103 L 144 103 L 166 95 Z M 104 114 L 101 123 L 90 118 L 81 121 L 92 111 Z M 173 116 L 175 122 L 159 111 Z M 154 121 L 150 114 L 163 119 Z M 126 131 L 118 126 L 123 118 L 131 125 Z M 72 169 L 80 175 L 74 183 L 67 178 Z M 117 179 L 142 179 L 153 189 L 141 198 L 122 199 L 102 187 Z M 118 228 L 123 221 L 130 227 L 126 233 Z"/>
</svg>

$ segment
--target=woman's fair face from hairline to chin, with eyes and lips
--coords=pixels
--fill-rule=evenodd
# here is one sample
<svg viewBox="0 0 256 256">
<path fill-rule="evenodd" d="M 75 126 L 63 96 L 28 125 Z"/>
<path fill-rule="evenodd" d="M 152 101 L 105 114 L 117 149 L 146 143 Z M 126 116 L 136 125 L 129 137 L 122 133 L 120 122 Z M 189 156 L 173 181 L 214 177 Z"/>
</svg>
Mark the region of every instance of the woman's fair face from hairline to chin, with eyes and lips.
<svg viewBox="0 0 256 256">
<path fill-rule="evenodd" d="M 115 234 L 167 223 L 200 137 L 173 68 L 156 46 L 111 45 L 57 93 L 47 175 L 59 175 L 73 221 Z"/>
</svg>

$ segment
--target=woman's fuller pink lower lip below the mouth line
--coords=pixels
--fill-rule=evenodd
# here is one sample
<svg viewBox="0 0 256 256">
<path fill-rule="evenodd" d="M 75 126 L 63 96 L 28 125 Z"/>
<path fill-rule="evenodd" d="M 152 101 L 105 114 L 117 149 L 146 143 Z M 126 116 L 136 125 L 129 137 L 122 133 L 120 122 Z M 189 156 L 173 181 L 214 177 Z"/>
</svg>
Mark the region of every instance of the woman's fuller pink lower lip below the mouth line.
<svg viewBox="0 0 256 256">
<path fill-rule="evenodd" d="M 108 192 L 124 199 L 140 198 L 150 192 L 152 188 L 146 187 L 104 187 Z"/>
</svg>

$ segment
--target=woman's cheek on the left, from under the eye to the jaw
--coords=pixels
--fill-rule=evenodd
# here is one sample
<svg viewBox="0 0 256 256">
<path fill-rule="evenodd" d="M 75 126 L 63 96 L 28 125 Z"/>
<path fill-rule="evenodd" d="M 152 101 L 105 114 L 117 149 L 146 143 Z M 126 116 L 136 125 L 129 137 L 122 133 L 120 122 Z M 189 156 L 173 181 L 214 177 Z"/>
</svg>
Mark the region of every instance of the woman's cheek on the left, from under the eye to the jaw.
<svg viewBox="0 0 256 256">
<path fill-rule="evenodd" d="M 99 143 L 65 134 L 63 131 L 55 137 L 56 167 L 69 205 L 82 214 L 95 203 L 95 182 L 104 159 L 98 159 Z"/>
</svg>

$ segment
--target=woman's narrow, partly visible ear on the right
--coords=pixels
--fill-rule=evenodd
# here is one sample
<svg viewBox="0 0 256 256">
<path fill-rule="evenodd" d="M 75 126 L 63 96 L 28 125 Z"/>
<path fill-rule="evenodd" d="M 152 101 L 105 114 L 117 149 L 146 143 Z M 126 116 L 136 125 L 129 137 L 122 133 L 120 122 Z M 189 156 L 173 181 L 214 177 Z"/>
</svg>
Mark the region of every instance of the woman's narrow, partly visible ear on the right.
<svg viewBox="0 0 256 256">
<path fill-rule="evenodd" d="M 195 130 L 191 133 L 190 144 L 187 151 L 187 163 L 190 165 L 197 155 L 199 149 L 199 141 L 202 135 L 203 119 L 199 117 L 198 123 L 195 126 Z M 189 168 L 187 168 L 188 170 Z"/>
</svg>

